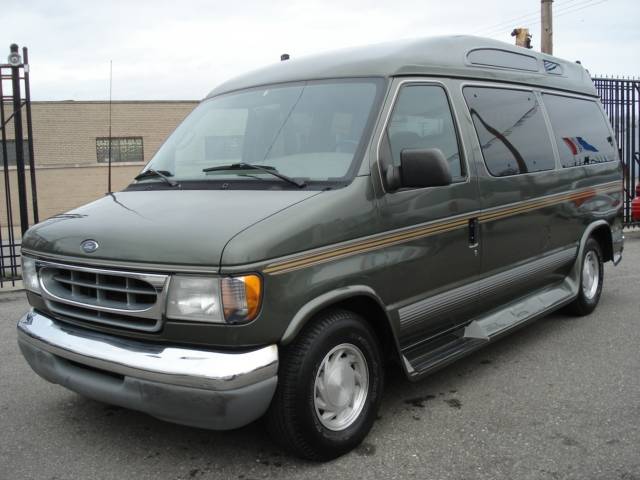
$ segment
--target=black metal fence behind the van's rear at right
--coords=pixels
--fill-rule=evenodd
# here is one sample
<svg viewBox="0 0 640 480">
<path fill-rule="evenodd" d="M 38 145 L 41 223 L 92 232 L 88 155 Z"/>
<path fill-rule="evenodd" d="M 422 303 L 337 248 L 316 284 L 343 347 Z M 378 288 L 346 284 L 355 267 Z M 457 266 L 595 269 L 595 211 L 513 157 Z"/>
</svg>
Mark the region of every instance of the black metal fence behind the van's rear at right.
<svg viewBox="0 0 640 480">
<path fill-rule="evenodd" d="M 624 222 L 640 225 L 631 218 L 631 201 L 640 175 L 640 80 L 599 77 L 593 83 L 611 120 L 624 165 Z"/>
</svg>

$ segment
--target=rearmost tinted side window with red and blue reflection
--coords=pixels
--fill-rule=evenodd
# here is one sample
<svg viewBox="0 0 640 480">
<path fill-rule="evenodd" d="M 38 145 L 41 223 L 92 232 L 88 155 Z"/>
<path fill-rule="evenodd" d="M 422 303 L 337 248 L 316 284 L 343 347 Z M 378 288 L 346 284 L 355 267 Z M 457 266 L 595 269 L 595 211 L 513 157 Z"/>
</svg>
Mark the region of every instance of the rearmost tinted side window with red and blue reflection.
<svg viewBox="0 0 640 480">
<path fill-rule="evenodd" d="M 544 94 L 563 167 L 616 160 L 613 139 L 596 102 Z"/>
</svg>

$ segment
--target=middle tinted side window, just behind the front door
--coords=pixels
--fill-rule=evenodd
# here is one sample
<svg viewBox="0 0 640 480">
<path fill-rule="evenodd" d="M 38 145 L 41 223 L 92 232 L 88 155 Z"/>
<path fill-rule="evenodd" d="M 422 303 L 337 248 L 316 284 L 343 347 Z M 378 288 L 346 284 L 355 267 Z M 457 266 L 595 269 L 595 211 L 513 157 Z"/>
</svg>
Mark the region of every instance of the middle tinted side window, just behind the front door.
<svg viewBox="0 0 640 480">
<path fill-rule="evenodd" d="M 551 139 L 533 92 L 467 87 L 463 93 L 491 175 L 555 168 Z"/>
</svg>

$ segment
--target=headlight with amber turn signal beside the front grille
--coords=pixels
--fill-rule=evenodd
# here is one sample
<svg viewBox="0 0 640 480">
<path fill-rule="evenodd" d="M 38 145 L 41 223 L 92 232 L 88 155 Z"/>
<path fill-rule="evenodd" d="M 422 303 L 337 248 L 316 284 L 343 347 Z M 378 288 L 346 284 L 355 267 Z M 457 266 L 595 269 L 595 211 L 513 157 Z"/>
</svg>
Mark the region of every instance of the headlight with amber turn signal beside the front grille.
<svg viewBox="0 0 640 480">
<path fill-rule="evenodd" d="M 260 310 L 262 281 L 257 275 L 196 277 L 174 275 L 169 285 L 167 317 L 211 323 L 245 323 Z"/>
</svg>

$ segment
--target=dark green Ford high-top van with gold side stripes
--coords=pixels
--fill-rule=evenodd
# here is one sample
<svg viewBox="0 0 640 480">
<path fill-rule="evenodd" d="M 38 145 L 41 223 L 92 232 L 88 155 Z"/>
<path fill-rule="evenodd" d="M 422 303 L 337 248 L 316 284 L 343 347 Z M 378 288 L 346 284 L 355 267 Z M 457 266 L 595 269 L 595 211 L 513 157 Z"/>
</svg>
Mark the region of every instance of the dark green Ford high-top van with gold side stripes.
<svg viewBox="0 0 640 480">
<path fill-rule="evenodd" d="M 210 429 L 264 416 L 334 458 L 388 361 L 419 380 L 593 311 L 621 179 L 579 64 L 468 36 L 293 58 L 213 90 L 123 191 L 26 233 L 18 342 L 81 395 Z"/>
</svg>

